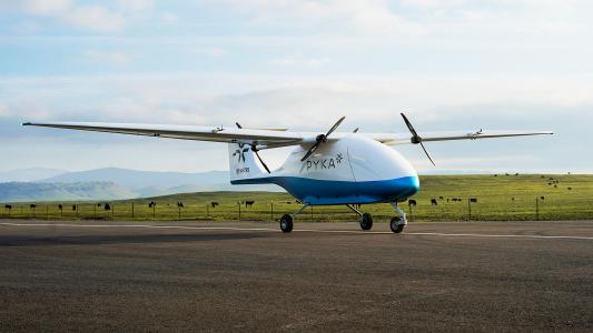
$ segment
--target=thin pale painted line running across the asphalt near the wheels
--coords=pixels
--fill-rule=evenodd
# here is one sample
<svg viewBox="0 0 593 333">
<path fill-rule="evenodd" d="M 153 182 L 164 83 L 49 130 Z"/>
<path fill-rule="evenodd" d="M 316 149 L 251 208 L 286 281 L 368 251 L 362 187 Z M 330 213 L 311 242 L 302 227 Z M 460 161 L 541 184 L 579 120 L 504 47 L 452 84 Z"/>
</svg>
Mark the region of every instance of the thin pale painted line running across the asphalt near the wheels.
<svg viewBox="0 0 593 333">
<path fill-rule="evenodd" d="M 187 225 L 151 225 L 151 224 L 67 224 L 67 223 L 0 223 L 4 226 L 63 226 L 63 228 L 103 228 L 103 229 L 171 229 L 171 230 L 226 230 L 226 231 L 267 231 L 279 232 L 273 228 L 239 228 L 239 226 L 187 226 Z M 314 230 L 295 229 L 294 232 L 314 233 L 355 233 L 355 234 L 393 234 L 389 231 L 355 231 L 355 230 Z M 401 235 L 428 235 L 453 238 L 495 238 L 495 239 L 542 239 L 542 240 L 586 240 L 593 236 L 574 235 L 530 235 L 530 234 L 483 234 L 483 233 L 441 233 L 441 232 L 405 232 Z"/>
</svg>

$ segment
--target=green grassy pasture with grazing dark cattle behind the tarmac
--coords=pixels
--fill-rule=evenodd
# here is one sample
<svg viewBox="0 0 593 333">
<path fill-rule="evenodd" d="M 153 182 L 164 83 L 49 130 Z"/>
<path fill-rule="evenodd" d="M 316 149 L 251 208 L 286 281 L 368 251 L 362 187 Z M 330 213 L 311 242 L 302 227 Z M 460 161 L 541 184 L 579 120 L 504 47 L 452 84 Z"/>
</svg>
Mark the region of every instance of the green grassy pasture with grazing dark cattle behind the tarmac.
<svg viewBox="0 0 593 333">
<path fill-rule="evenodd" d="M 477 202 L 468 202 L 468 199 Z M 593 175 L 427 175 L 421 176 L 416 206 L 401 203 L 412 221 L 517 221 L 593 220 Z M 436 199 L 437 205 L 431 204 Z M 461 201 L 453 201 L 461 199 Z M 156 206 L 149 208 L 150 202 Z M 178 202 L 184 208 L 178 208 Z M 244 201 L 255 201 L 246 208 Z M 211 202 L 218 202 L 216 208 Z M 98 205 L 100 203 L 100 206 Z M 2 203 L 1 218 L 16 219 L 99 219 L 99 220 L 278 220 L 300 205 L 286 193 L 209 192 L 182 193 L 107 202 Z M 12 209 L 6 208 L 11 204 Z M 59 204 L 62 210 L 59 210 Z M 77 205 L 77 210 L 72 210 Z M 363 205 L 375 221 L 395 215 L 388 204 Z M 471 215 L 470 215 L 471 210 Z M 315 206 L 299 221 L 355 221 L 345 206 Z"/>
</svg>

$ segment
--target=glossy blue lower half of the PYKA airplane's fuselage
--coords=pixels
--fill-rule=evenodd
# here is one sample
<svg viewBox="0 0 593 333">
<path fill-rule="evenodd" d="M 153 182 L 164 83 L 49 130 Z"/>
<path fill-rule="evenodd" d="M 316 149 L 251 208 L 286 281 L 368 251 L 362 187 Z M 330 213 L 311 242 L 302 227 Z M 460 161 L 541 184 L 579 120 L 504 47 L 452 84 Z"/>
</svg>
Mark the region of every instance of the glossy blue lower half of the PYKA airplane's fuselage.
<svg viewBox="0 0 593 333">
<path fill-rule="evenodd" d="M 277 184 L 300 202 L 314 205 L 404 201 L 419 190 L 417 176 L 365 182 L 315 180 L 298 176 L 266 176 L 235 180 L 230 183 Z"/>
</svg>

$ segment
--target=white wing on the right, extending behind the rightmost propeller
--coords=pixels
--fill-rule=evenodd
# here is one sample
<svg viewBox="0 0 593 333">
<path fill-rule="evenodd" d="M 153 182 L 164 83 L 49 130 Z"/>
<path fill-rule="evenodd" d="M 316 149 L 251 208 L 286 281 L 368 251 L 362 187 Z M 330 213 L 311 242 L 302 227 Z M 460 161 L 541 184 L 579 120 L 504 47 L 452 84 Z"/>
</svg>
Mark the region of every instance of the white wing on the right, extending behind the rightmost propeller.
<svg viewBox="0 0 593 333">
<path fill-rule="evenodd" d="M 425 132 L 418 133 L 422 142 L 431 141 L 453 141 L 453 140 L 478 140 L 492 138 L 511 138 L 511 137 L 531 137 L 531 135 L 552 135 L 547 131 L 477 131 L 477 132 Z M 409 135 L 392 133 L 369 133 L 370 138 L 383 142 L 387 145 L 411 144 L 414 142 Z"/>
</svg>

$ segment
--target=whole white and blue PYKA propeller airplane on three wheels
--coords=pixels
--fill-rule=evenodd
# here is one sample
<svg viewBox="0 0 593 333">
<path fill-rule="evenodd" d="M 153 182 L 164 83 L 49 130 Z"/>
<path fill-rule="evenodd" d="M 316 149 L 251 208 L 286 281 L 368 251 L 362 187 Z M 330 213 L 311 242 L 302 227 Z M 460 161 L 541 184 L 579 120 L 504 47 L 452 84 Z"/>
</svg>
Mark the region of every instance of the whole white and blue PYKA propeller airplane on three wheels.
<svg viewBox="0 0 593 333">
<path fill-rule="evenodd" d="M 362 230 L 373 228 L 373 215 L 360 212 L 359 204 L 391 203 L 397 216 L 389 228 L 401 233 L 407 224 L 399 202 L 419 191 L 416 170 L 393 147 L 419 144 L 433 163 L 424 143 L 448 140 L 553 134 L 537 131 L 448 132 L 418 134 L 411 121 L 401 113 L 409 135 L 396 133 L 336 132 L 342 117 L 326 133 L 294 132 L 286 129 L 246 129 L 137 123 L 100 122 L 24 122 L 22 125 L 109 132 L 156 138 L 198 140 L 228 143 L 231 184 L 277 184 L 296 198 L 303 206 L 280 218 L 280 230 L 293 231 L 295 216 L 313 205 L 346 205 L 359 216 Z M 270 170 L 259 151 L 295 147 L 281 167 Z"/>
</svg>

